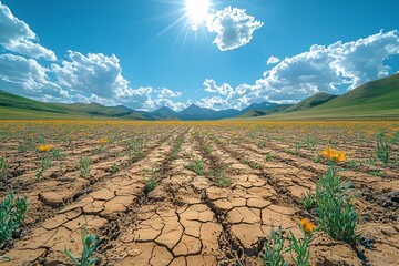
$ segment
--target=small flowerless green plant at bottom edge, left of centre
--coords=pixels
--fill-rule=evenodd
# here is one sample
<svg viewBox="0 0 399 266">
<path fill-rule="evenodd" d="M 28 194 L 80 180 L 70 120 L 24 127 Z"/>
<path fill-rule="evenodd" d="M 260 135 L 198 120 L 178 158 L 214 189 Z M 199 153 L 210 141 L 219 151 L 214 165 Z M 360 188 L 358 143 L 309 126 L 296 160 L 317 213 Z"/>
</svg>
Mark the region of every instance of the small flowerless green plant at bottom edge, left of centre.
<svg viewBox="0 0 399 266">
<path fill-rule="evenodd" d="M 101 239 L 98 235 L 88 235 L 88 218 L 84 216 L 85 223 L 82 226 L 82 245 L 83 250 L 80 258 L 74 257 L 71 252 L 65 248 L 66 256 L 75 266 L 91 266 L 99 259 L 93 256 L 96 248 L 101 245 Z"/>
</svg>

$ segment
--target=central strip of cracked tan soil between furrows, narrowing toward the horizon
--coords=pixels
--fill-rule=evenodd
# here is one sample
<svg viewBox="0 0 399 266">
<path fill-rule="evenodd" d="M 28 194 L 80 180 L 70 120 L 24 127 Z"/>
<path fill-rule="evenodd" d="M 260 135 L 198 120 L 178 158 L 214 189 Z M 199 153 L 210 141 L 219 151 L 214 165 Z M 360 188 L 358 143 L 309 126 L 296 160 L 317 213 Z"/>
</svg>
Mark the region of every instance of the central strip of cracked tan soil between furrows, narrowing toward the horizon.
<svg viewBox="0 0 399 266">
<path fill-rule="evenodd" d="M 201 158 L 191 140 L 162 171 L 160 184 L 147 201 L 124 216 L 121 235 L 106 250 L 114 265 L 216 265 L 223 257 L 218 245 L 222 226 L 194 187 L 209 181 L 185 168 Z"/>
</svg>

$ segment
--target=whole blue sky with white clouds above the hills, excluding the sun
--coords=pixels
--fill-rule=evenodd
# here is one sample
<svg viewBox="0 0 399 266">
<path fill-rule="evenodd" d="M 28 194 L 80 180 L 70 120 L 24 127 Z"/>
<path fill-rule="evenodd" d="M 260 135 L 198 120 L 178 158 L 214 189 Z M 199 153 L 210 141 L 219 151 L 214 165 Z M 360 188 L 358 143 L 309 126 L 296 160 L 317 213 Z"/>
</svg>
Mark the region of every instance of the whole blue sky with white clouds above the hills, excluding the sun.
<svg viewBox="0 0 399 266">
<path fill-rule="evenodd" d="M 196 0 L 206 1 L 206 0 Z M 397 0 L 2 0 L 0 89 L 141 110 L 341 94 L 399 71 Z"/>
</svg>

